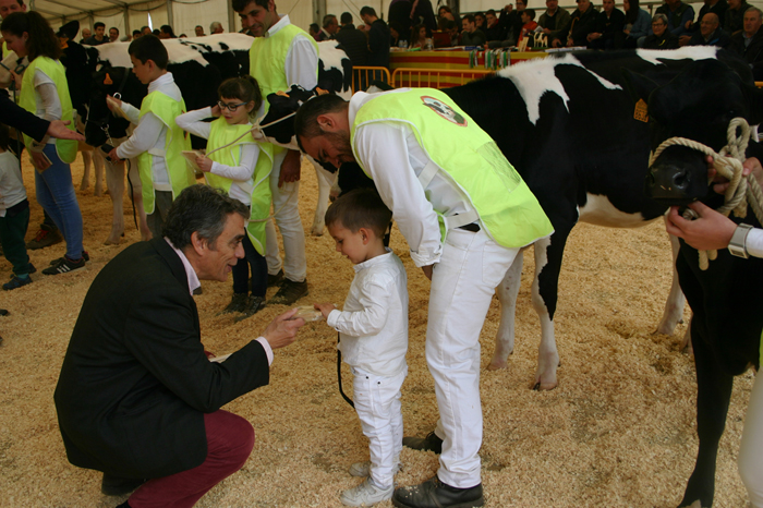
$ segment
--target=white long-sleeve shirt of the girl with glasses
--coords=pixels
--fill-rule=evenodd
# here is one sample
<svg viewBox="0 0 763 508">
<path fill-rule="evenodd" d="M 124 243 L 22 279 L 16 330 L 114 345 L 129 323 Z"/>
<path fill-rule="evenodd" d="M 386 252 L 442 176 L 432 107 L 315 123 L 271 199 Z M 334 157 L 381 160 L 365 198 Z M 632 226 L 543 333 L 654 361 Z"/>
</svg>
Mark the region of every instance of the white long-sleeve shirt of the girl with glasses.
<svg viewBox="0 0 763 508">
<path fill-rule="evenodd" d="M 211 132 L 211 124 L 203 120 L 210 117 L 211 108 L 209 107 L 183 113 L 175 118 L 174 121 L 183 131 L 187 131 L 198 137 L 208 140 L 209 133 Z M 209 152 L 209 147 L 207 147 L 207 152 Z M 252 181 L 252 177 L 254 176 L 254 168 L 257 165 L 258 157 L 258 145 L 239 145 L 239 160 L 241 161 L 241 165 L 227 166 L 213 160 L 209 172 L 233 180 L 233 184 L 230 186 L 230 196 L 239 199 L 244 205 L 251 205 L 252 196 L 249 194 L 249 191 L 246 191 L 246 186 L 251 186 L 254 183 Z M 241 186 L 242 184 L 244 186 Z"/>
</svg>

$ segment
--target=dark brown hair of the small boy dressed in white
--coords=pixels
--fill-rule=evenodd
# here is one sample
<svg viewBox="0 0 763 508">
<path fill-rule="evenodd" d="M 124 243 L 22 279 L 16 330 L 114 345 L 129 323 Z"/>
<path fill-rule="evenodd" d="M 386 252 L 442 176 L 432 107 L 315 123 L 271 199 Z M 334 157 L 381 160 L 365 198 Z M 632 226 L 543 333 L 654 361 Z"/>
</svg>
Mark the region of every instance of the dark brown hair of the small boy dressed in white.
<svg viewBox="0 0 763 508">
<path fill-rule="evenodd" d="M 341 225 L 353 233 L 367 228 L 377 238 L 384 238 L 391 219 L 392 213 L 375 189 L 356 189 L 342 194 L 326 210 L 326 226 Z"/>
</svg>

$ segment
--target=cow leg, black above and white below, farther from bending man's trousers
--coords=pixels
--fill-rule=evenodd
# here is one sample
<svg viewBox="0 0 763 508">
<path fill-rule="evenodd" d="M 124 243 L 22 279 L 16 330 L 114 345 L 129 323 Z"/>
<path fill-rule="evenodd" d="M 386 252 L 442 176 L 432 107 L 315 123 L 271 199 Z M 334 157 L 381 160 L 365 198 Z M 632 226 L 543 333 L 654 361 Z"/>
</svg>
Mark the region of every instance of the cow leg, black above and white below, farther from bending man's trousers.
<svg viewBox="0 0 763 508">
<path fill-rule="evenodd" d="M 553 241 L 552 241 L 553 240 Z M 537 371 L 531 383 L 535 390 L 552 390 L 557 386 L 556 370 L 559 352 L 554 336 L 554 312 L 559 283 L 559 269 L 567 234 L 555 232 L 552 238 L 535 242 L 535 277 L 533 279 L 533 307 L 541 319 L 541 346 L 537 352 Z"/>
</svg>

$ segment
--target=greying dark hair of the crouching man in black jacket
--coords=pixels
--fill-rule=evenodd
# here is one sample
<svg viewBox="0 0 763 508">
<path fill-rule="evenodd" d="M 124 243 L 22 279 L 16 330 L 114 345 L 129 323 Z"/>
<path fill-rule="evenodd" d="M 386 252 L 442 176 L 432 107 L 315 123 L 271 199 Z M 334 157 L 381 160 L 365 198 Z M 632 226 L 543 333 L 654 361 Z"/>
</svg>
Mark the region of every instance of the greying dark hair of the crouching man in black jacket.
<svg viewBox="0 0 763 508">
<path fill-rule="evenodd" d="M 196 232 L 214 250 L 231 214 L 239 214 L 244 219 L 250 217 L 249 208 L 221 189 L 191 185 L 172 202 L 161 235 L 182 251 L 191 245 L 191 235 Z"/>
</svg>

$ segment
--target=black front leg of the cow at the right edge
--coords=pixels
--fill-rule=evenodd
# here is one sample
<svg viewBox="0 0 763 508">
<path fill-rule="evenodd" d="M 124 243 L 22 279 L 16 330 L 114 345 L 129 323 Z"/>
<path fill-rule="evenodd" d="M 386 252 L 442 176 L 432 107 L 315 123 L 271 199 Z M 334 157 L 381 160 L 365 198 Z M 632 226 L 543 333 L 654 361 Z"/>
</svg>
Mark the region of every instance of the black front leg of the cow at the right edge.
<svg viewBox="0 0 763 508">
<path fill-rule="evenodd" d="M 704 334 L 698 325 L 700 322 L 697 316 L 691 320 L 697 366 L 697 435 L 700 449 L 680 507 L 713 506 L 718 443 L 726 426 L 734 386 L 734 376 L 723 372 L 713 351 L 705 343 Z"/>
</svg>

